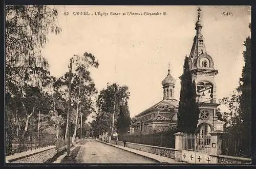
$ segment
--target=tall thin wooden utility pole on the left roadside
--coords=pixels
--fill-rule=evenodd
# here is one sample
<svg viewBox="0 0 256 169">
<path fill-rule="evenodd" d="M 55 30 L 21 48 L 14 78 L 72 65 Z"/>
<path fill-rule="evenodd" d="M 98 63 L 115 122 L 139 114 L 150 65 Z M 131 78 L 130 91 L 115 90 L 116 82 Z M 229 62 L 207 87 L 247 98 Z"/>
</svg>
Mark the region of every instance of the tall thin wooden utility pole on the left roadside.
<svg viewBox="0 0 256 169">
<path fill-rule="evenodd" d="M 70 125 L 70 114 L 71 114 L 71 74 L 72 74 L 72 60 L 70 59 L 70 65 L 69 65 L 69 115 L 68 115 L 68 147 L 67 147 L 67 155 L 70 157 L 70 131 L 69 131 L 69 125 Z"/>
</svg>

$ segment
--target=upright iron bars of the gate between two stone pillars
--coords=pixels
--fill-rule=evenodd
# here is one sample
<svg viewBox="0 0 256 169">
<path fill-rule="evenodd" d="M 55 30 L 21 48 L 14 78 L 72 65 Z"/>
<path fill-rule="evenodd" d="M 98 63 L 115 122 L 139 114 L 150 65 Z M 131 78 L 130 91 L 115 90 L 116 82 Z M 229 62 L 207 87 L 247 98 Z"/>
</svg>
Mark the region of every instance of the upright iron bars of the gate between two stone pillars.
<svg viewBox="0 0 256 169">
<path fill-rule="evenodd" d="M 210 153 L 210 136 L 209 135 L 183 135 L 183 150 L 196 151 L 201 153 Z"/>
</svg>

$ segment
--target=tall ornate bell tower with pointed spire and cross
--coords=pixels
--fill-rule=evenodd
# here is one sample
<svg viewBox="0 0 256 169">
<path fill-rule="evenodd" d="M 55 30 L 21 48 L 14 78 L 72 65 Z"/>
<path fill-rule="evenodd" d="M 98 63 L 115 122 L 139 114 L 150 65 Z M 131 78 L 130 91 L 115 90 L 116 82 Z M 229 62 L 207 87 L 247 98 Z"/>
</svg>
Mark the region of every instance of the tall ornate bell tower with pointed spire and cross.
<svg viewBox="0 0 256 169">
<path fill-rule="evenodd" d="M 218 74 L 218 70 L 214 68 L 214 60 L 207 53 L 204 37 L 201 33 L 201 9 L 198 8 L 198 19 L 196 22 L 196 35 L 194 37 L 193 46 L 191 48 L 189 57 L 189 68 L 192 74 L 192 80 L 196 82 L 197 101 L 200 104 L 200 115 L 198 122 L 198 130 L 200 134 L 207 134 L 210 131 L 223 130 L 223 124 L 217 120 L 216 103 L 217 86 L 215 83 L 215 76 Z"/>
</svg>

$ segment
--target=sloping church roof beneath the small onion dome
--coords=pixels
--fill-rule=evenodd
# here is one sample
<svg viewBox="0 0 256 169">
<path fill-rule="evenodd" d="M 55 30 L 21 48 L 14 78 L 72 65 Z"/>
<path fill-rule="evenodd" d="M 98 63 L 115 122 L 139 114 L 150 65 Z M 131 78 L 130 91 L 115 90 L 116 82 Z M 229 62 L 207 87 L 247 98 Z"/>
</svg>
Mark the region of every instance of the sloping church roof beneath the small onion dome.
<svg viewBox="0 0 256 169">
<path fill-rule="evenodd" d="M 164 99 L 164 100 L 161 100 L 160 102 L 154 104 L 150 108 L 147 108 L 146 110 L 142 111 L 140 114 L 136 115 L 135 117 L 144 115 L 151 110 L 169 112 L 170 110 L 177 109 L 177 108 L 178 108 L 178 101 L 176 99 Z"/>
</svg>

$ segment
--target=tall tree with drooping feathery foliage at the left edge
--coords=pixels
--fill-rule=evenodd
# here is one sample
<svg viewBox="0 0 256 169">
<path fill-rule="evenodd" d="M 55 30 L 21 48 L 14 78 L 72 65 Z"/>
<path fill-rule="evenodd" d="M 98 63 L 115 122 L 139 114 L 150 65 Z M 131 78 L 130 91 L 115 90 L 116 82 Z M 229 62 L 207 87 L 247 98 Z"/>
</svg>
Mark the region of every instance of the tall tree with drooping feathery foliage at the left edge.
<svg viewBox="0 0 256 169">
<path fill-rule="evenodd" d="M 15 128 L 18 133 L 29 129 L 29 121 L 36 114 L 45 112 L 47 94 L 42 88 L 47 86 L 50 72 L 40 50 L 47 43 L 49 32 L 58 34 L 61 30 L 55 24 L 57 11 L 48 6 L 9 5 L 5 14 L 6 120 L 15 121 L 7 128 Z"/>
</svg>

